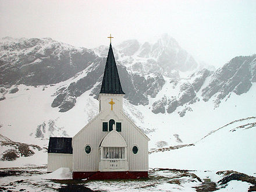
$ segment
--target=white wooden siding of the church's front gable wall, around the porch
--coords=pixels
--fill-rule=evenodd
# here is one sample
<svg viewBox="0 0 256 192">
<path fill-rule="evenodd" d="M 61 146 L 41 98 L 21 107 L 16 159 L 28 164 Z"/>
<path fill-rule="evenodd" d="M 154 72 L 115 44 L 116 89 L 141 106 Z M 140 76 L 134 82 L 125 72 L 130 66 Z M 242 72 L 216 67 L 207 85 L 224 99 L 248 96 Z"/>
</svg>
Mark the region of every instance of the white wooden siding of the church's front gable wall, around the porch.
<svg viewBox="0 0 256 192">
<path fill-rule="evenodd" d="M 122 96 L 122 95 L 121 95 Z M 148 137 L 142 133 L 122 111 L 123 98 L 120 95 L 104 94 L 101 99 L 101 112 L 86 127 L 84 127 L 76 136 L 73 137 L 73 155 L 74 171 L 97 171 L 99 170 L 99 144 L 109 132 L 102 131 L 102 122 L 109 122 L 114 119 L 115 122 L 122 122 L 122 131 L 119 132 L 127 144 L 127 161 L 131 171 L 148 170 Z M 113 99 L 116 104 L 111 111 L 108 102 Z M 90 154 L 86 154 L 84 147 L 91 146 Z M 137 154 L 133 154 L 132 148 L 138 147 Z"/>
</svg>

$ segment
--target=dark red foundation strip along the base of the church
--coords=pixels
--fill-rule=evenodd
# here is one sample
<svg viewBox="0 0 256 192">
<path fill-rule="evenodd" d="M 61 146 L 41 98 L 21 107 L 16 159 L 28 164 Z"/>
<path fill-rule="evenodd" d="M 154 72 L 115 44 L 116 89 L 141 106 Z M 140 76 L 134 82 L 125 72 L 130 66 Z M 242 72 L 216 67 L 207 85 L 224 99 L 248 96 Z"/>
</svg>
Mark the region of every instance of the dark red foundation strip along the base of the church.
<svg viewBox="0 0 256 192">
<path fill-rule="evenodd" d="M 140 179 L 147 178 L 148 172 L 73 172 L 73 179 Z"/>
</svg>

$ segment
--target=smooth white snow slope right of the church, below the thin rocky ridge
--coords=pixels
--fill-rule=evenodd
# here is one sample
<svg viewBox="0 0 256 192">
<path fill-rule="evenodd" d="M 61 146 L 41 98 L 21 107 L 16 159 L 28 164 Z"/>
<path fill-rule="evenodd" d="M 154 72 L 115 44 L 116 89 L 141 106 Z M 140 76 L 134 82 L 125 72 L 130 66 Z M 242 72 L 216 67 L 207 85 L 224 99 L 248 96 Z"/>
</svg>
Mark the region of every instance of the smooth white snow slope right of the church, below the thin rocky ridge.
<svg viewBox="0 0 256 192">
<path fill-rule="evenodd" d="M 150 167 L 237 170 L 256 176 L 255 128 L 231 132 L 227 126 L 194 146 L 150 154 Z M 161 162 L 159 162 L 161 159 Z"/>
</svg>

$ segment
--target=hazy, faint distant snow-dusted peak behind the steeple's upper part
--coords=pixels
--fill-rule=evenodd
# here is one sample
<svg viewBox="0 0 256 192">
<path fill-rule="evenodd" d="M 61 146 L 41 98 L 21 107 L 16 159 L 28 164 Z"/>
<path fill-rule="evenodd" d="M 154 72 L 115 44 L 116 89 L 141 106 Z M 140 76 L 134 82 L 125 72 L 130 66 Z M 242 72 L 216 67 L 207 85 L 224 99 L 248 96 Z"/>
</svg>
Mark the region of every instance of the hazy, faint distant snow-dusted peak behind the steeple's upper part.
<svg viewBox="0 0 256 192">
<path fill-rule="evenodd" d="M 108 47 L 101 46 L 94 51 L 99 56 L 106 56 Z M 137 40 L 127 40 L 117 45 L 113 52 L 129 72 L 141 75 L 158 72 L 166 77 L 177 78 L 181 72 L 198 67 L 195 59 L 168 34 L 160 35 L 154 42 L 142 44 Z"/>
</svg>

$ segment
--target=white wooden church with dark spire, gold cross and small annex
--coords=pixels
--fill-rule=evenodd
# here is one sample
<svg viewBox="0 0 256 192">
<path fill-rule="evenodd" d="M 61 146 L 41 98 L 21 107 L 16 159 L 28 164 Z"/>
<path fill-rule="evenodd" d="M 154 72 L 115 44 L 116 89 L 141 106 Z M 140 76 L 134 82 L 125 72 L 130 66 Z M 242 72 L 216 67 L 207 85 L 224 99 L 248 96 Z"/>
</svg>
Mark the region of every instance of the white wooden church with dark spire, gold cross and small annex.
<svg viewBox="0 0 256 192">
<path fill-rule="evenodd" d="M 110 43 L 99 113 L 73 138 L 49 138 L 47 171 L 69 168 L 73 179 L 148 177 L 150 139 L 123 113 L 124 95 Z"/>
</svg>

